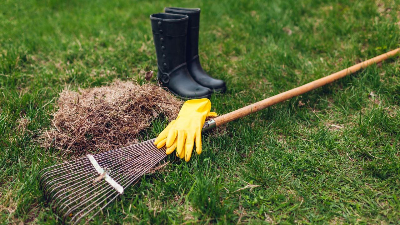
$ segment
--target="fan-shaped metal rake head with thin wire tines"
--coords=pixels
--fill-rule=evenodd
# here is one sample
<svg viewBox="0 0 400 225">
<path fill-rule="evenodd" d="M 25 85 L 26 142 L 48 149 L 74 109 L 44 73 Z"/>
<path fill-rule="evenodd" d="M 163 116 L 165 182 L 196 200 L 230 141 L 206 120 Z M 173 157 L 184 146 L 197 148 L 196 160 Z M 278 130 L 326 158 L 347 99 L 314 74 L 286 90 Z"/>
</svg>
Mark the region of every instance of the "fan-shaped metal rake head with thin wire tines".
<svg viewBox="0 0 400 225">
<path fill-rule="evenodd" d="M 40 187 L 63 223 L 90 221 L 166 157 L 151 139 L 40 171 Z"/>
</svg>

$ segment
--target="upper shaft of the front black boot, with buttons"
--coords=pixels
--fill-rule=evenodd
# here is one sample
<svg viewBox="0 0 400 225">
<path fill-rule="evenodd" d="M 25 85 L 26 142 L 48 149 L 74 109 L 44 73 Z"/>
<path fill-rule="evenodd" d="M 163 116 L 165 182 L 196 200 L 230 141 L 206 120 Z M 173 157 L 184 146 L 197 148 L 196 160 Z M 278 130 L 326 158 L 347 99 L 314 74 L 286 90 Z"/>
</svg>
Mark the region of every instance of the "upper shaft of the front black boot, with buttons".
<svg viewBox="0 0 400 225">
<path fill-rule="evenodd" d="M 157 13 L 150 16 L 158 70 L 170 72 L 186 63 L 188 16 Z"/>
</svg>

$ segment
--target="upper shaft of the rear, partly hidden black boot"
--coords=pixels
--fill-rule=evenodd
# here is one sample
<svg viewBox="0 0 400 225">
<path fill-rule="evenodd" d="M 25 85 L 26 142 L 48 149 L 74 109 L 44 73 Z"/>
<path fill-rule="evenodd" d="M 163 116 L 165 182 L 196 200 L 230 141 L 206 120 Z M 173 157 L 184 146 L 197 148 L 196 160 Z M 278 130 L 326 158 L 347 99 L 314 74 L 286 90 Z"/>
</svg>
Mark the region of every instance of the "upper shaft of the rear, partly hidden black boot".
<svg viewBox="0 0 400 225">
<path fill-rule="evenodd" d="M 186 44 L 186 60 L 189 62 L 198 55 L 198 41 L 200 28 L 200 8 L 164 8 L 166 13 L 186 15 L 189 17 Z"/>
</svg>

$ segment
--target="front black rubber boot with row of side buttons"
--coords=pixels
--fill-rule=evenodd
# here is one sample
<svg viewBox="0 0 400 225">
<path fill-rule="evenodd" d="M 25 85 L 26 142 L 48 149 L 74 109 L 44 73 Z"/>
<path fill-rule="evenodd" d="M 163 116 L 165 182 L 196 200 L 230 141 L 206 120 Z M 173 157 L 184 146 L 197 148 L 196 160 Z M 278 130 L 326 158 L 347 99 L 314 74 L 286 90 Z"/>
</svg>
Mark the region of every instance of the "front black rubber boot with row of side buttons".
<svg viewBox="0 0 400 225">
<path fill-rule="evenodd" d="M 198 84 L 186 64 L 188 16 L 158 13 L 150 16 L 156 46 L 157 78 L 173 94 L 186 99 L 210 98 L 212 91 Z"/>
</svg>

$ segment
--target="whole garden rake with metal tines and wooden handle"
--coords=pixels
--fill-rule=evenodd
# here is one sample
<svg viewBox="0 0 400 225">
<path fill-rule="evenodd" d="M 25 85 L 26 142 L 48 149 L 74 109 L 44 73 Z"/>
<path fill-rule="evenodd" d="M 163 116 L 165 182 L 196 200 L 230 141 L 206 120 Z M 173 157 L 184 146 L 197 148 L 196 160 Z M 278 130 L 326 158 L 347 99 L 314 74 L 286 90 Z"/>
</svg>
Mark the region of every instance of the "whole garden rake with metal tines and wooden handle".
<svg viewBox="0 0 400 225">
<path fill-rule="evenodd" d="M 386 60 L 398 52 L 400 52 L 400 48 L 207 120 L 204 123 L 203 131 L 334 82 L 371 64 Z M 166 157 L 166 147 L 157 149 L 154 140 L 105 153 L 87 155 L 43 169 L 39 176 L 40 187 L 45 198 L 64 223 L 78 224 L 90 221 L 114 199 L 122 195 L 124 189 L 138 182 L 140 177 Z"/>
</svg>

